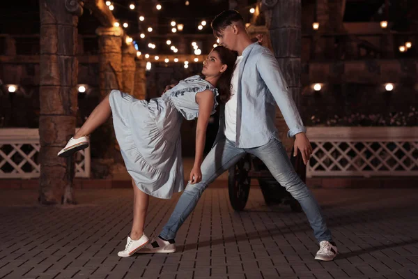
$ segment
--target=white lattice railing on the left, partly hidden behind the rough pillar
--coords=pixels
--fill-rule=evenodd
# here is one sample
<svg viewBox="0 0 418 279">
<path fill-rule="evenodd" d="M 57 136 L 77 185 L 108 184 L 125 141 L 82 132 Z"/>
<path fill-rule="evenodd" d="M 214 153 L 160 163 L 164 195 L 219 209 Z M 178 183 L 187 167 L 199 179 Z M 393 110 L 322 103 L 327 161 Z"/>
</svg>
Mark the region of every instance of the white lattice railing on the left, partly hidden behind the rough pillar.
<svg viewBox="0 0 418 279">
<path fill-rule="evenodd" d="M 39 177 L 38 129 L 0 129 L 0 179 L 32 179 Z M 90 176 L 90 147 L 77 152 L 75 176 Z"/>
</svg>

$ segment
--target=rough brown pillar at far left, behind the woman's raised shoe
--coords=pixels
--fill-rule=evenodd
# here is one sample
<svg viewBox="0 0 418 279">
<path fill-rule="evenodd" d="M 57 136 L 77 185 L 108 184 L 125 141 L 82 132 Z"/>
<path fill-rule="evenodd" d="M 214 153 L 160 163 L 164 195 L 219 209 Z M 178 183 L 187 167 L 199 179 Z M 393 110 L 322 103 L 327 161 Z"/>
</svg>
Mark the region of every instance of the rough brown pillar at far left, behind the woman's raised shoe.
<svg viewBox="0 0 418 279">
<path fill-rule="evenodd" d="M 40 0 L 40 180 L 39 202 L 74 203 L 72 158 L 56 154 L 75 133 L 77 24 L 75 0 Z"/>
</svg>

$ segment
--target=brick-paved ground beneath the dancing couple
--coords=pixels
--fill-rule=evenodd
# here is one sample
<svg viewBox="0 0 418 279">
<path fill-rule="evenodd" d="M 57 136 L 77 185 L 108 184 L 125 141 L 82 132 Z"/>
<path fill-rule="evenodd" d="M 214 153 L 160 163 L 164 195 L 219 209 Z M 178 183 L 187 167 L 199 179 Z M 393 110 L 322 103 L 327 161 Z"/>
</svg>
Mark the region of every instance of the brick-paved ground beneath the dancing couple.
<svg viewBox="0 0 418 279">
<path fill-rule="evenodd" d="M 418 278 L 418 189 L 316 189 L 340 250 L 316 262 L 303 213 L 267 207 L 252 188 L 246 211 L 208 189 L 180 229 L 174 254 L 120 258 L 129 189 L 77 190 L 77 206 L 38 206 L 35 190 L 0 191 L 0 278 Z M 157 234 L 179 195 L 152 199 Z"/>
</svg>

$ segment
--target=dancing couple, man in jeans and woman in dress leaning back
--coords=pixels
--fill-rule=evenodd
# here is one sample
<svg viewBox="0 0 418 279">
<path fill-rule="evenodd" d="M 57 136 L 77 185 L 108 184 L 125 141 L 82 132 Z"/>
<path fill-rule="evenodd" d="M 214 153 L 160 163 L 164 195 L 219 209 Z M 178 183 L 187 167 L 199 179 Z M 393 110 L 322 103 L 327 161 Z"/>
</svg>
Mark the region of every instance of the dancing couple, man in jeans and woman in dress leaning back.
<svg viewBox="0 0 418 279">
<path fill-rule="evenodd" d="M 295 154 L 306 164 L 311 144 L 291 98 L 279 64 L 266 47 L 247 34 L 242 16 L 226 10 L 212 21 L 219 39 L 203 61 L 201 75 L 181 80 L 160 98 L 137 100 L 113 90 L 93 110 L 82 128 L 58 156 L 71 156 L 88 146 L 88 135 L 112 116 L 116 139 L 127 172 L 132 176 L 134 212 L 130 236 L 120 257 L 137 253 L 176 252 L 176 233 L 196 207 L 203 191 L 246 153 L 260 158 L 271 174 L 300 203 L 319 243 L 315 259 L 331 261 L 337 253 L 320 207 L 296 174 L 274 126 L 279 105 L 294 137 Z M 219 131 L 203 160 L 203 147 L 210 115 L 219 103 Z M 197 118 L 196 153 L 189 182 L 184 187 L 180 125 Z M 169 199 L 183 190 L 167 224 L 155 239 L 144 234 L 149 196 Z"/>
</svg>

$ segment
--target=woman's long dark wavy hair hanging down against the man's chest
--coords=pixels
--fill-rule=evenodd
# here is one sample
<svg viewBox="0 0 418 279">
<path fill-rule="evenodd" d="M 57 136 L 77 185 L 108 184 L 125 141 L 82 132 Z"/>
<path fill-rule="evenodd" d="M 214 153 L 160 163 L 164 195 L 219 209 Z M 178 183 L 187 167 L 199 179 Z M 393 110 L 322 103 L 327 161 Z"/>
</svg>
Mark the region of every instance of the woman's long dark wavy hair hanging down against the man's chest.
<svg viewBox="0 0 418 279">
<path fill-rule="evenodd" d="M 219 77 L 217 82 L 219 99 L 221 103 L 226 103 L 229 98 L 231 98 L 231 78 L 235 68 L 235 61 L 237 60 L 238 53 L 234 52 L 233 50 L 229 50 L 222 45 L 218 45 L 213 50 L 219 54 L 221 63 L 228 66 L 224 73 L 222 73 L 222 75 Z"/>
</svg>

